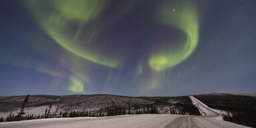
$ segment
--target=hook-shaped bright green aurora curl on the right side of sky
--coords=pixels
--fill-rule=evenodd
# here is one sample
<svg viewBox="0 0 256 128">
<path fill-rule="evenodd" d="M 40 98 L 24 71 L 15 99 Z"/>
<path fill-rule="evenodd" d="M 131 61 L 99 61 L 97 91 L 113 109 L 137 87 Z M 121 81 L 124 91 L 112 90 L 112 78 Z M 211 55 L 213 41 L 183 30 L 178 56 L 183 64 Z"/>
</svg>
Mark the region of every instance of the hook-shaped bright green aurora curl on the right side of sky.
<svg viewBox="0 0 256 128">
<path fill-rule="evenodd" d="M 174 5 L 177 6 L 176 9 L 173 9 Z M 181 63 L 193 53 L 199 39 L 199 21 L 195 5 L 188 3 L 163 4 L 158 19 L 161 23 L 176 27 L 187 34 L 185 43 L 179 49 L 152 54 L 149 58 L 149 66 L 152 69 L 163 71 Z"/>
</svg>

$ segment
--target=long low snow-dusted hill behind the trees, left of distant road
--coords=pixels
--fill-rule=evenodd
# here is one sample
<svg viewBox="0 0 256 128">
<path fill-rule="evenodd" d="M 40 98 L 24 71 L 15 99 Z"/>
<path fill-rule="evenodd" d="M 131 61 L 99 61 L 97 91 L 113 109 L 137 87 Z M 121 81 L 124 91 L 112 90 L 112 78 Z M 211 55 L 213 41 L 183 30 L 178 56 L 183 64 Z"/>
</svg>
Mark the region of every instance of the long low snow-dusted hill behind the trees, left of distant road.
<svg viewBox="0 0 256 128">
<path fill-rule="evenodd" d="M 7 117 L 11 112 L 20 111 L 25 96 L 0 97 L 0 117 Z M 198 115 L 199 111 L 193 106 L 188 97 L 125 97 L 119 95 L 31 95 L 25 105 L 25 113 L 42 115 L 52 104 L 51 112 L 60 111 L 104 111 L 115 107 L 129 107 L 132 110 L 157 108 L 159 113 L 170 113 L 174 108 L 177 113 L 184 110 L 186 114 Z"/>
</svg>

